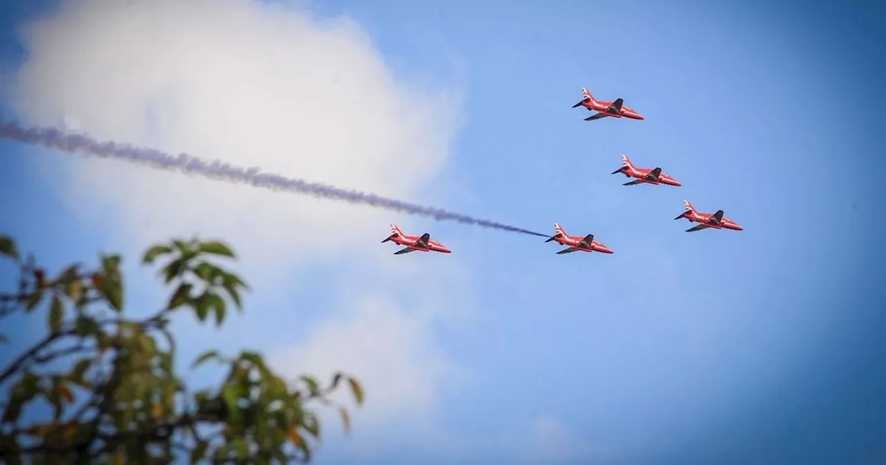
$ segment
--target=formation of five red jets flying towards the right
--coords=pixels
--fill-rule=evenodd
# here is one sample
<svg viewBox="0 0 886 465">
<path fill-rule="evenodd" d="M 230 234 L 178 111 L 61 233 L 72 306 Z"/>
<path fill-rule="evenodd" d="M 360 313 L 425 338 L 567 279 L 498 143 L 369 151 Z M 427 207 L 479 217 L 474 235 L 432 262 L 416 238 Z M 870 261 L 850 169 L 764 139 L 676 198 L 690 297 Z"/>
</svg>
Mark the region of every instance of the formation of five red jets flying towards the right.
<svg viewBox="0 0 886 465">
<path fill-rule="evenodd" d="M 625 100 L 621 97 L 616 98 L 612 102 L 597 100 L 586 88 L 581 88 L 584 98 L 578 104 L 572 105 L 572 108 L 584 106 L 589 112 L 595 114 L 585 118 L 586 121 L 600 120 L 602 118 L 630 118 L 632 120 L 644 120 L 643 115 L 634 111 L 632 108 L 625 106 Z M 626 155 L 621 156 L 621 167 L 613 171 L 612 174 L 625 174 L 626 177 L 634 178 L 632 181 L 625 182 L 623 186 L 633 186 L 636 184 L 666 184 L 669 186 L 680 187 L 683 184 L 674 179 L 669 174 L 665 174 L 661 167 L 641 168 L 636 167 L 631 159 Z M 702 229 L 733 229 L 736 231 L 744 230 L 735 221 L 728 219 L 723 215 L 723 210 L 716 213 L 700 213 L 696 207 L 683 200 L 683 213 L 674 218 L 686 218 L 689 222 L 698 223 L 696 226 L 689 228 L 686 232 L 696 232 Z M 405 248 L 394 252 L 394 255 L 400 255 L 408 252 L 443 252 L 452 253 L 451 250 L 443 246 L 437 241 L 431 240 L 431 235 L 424 233 L 422 236 L 406 236 L 396 224 L 391 225 L 391 236 L 388 236 L 382 243 L 392 241 L 395 244 L 404 245 Z M 612 249 L 595 240 L 593 234 L 587 236 L 570 236 L 566 234 L 563 227 L 559 223 L 554 223 L 554 236 L 550 236 L 546 243 L 554 241 L 557 244 L 566 245 L 567 247 L 558 255 L 571 252 L 602 252 L 614 253 Z"/>
</svg>

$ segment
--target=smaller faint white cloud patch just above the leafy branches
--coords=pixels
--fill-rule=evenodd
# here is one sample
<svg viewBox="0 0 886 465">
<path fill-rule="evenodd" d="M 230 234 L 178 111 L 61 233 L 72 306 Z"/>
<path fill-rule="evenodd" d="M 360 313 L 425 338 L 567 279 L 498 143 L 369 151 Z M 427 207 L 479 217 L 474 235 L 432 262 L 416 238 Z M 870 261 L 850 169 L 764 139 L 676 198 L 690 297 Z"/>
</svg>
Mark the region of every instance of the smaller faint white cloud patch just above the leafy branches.
<svg viewBox="0 0 886 465">
<path fill-rule="evenodd" d="M 404 311 L 382 296 L 361 298 L 352 308 L 343 320 L 321 324 L 308 340 L 278 353 L 272 363 L 297 367 L 324 382 L 332 368 L 348 367 L 368 391 L 354 422 L 361 430 L 403 415 L 433 413 L 439 384 L 462 373 L 433 344 L 429 315 Z M 342 394 L 339 399 L 351 397 L 349 391 Z"/>
</svg>

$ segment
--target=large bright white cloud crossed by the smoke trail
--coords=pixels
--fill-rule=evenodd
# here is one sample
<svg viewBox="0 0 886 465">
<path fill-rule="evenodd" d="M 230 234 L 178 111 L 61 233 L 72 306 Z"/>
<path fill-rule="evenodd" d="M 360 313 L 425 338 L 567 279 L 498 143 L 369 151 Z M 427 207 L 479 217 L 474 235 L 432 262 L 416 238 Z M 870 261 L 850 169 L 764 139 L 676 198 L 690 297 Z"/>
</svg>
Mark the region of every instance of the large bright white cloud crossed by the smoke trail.
<svg viewBox="0 0 886 465">
<path fill-rule="evenodd" d="M 431 115 L 422 103 L 448 93 L 396 81 L 347 19 L 235 0 L 92 1 L 65 4 L 25 40 L 17 112 L 75 120 L 99 139 L 407 197 L 438 171 L 455 129 L 455 108 Z M 391 216 L 104 160 L 77 167 L 67 190 L 120 207 L 143 240 L 223 228 L 238 243 L 342 255 Z"/>
</svg>

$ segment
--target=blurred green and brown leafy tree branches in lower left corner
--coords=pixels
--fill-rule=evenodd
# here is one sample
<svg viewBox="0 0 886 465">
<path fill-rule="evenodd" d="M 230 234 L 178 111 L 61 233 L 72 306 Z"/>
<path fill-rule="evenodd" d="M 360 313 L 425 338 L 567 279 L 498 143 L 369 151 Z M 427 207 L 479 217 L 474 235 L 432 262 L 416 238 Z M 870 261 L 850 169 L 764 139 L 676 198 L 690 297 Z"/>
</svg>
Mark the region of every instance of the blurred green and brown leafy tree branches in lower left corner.
<svg viewBox="0 0 886 465">
<path fill-rule="evenodd" d="M 214 361 L 227 376 L 214 389 L 189 391 L 175 373 L 175 337 L 169 316 L 193 312 L 199 322 L 221 325 L 230 306 L 242 311 L 247 284 L 215 265 L 213 256 L 235 258 L 217 241 L 174 240 L 150 247 L 143 263 L 167 263 L 159 271 L 174 288 L 156 314 L 127 319 L 120 256 L 104 255 L 97 267 L 66 267 L 48 278 L 33 256 L 27 260 L 10 237 L 0 236 L 0 256 L 19 267 L 18 291 L 0 294 L 0 318 L 45 310 L 47 334 L 0 372 L 8 398 L 0 405 L 0 451 L 7 463 L 284 463 L 310 461 L 320 441 L 312 401 L 346 382 L 357 404 L 360 383 L 338 373 L 323 388 L 311 377 L 286 382 L 260 353 L 226 357 L 207 351 L 191 368 Z M 0 335 L 0 344 L 7 336 Z M 64 366 L 66 369 L 58 369 Z M 26 422 L 23 412 L 43 399 L 44 418 Z M 335 406 L 350 430 L 350 415 Z"/>
</svg>

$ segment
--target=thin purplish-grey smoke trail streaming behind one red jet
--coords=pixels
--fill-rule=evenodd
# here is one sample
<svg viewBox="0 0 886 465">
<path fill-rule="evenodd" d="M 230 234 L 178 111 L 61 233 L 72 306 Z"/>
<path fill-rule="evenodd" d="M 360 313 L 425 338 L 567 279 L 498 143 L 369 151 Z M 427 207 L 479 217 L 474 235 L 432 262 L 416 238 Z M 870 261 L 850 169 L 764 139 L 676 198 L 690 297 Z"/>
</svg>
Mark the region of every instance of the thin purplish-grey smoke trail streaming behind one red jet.
<svg viewBox="0 0 886 465">
<path fill-rule="evenodd" d="M 354 204 L 372 205 L 397 212 L 430 216 L 438 221 L 458 221 L 466 224 L 475 224 L 484 228 L 502 229 L 532 236 L 549 236 L 528 229 L 521 229 L 494 221 L 478 220 L 477 218 L 447 212 L 439 208 L 409 204 L 393 198 L 379 197 L 375 194 L 368 194 L 357 190 L 339 189 L 326 184 L 287 178 L 279 174 L 260 173 L 257 167 L 234 167 L 218 160 L 206 162 L 186 153 L 172 156 L 162 151 L 136 148 L 125 143 L 114 143 L 113 141 L 98 142 L 89 136 L 66 134 L 58 128 L 22 128 L 15 122 L 0 121 L 0 137 L 20 143 L 43 145 L 44 147 L 59 151 L 81 152 L 102 158 L 123 159 L 155 168 L 178 169 L 188 174 L 202 174 L 221 181 L 245 182 L 253 186 L 272 190 L 289 190 L 291 192 L 310 194 L 319 198 L 345 200 Z"/>
</svg>

